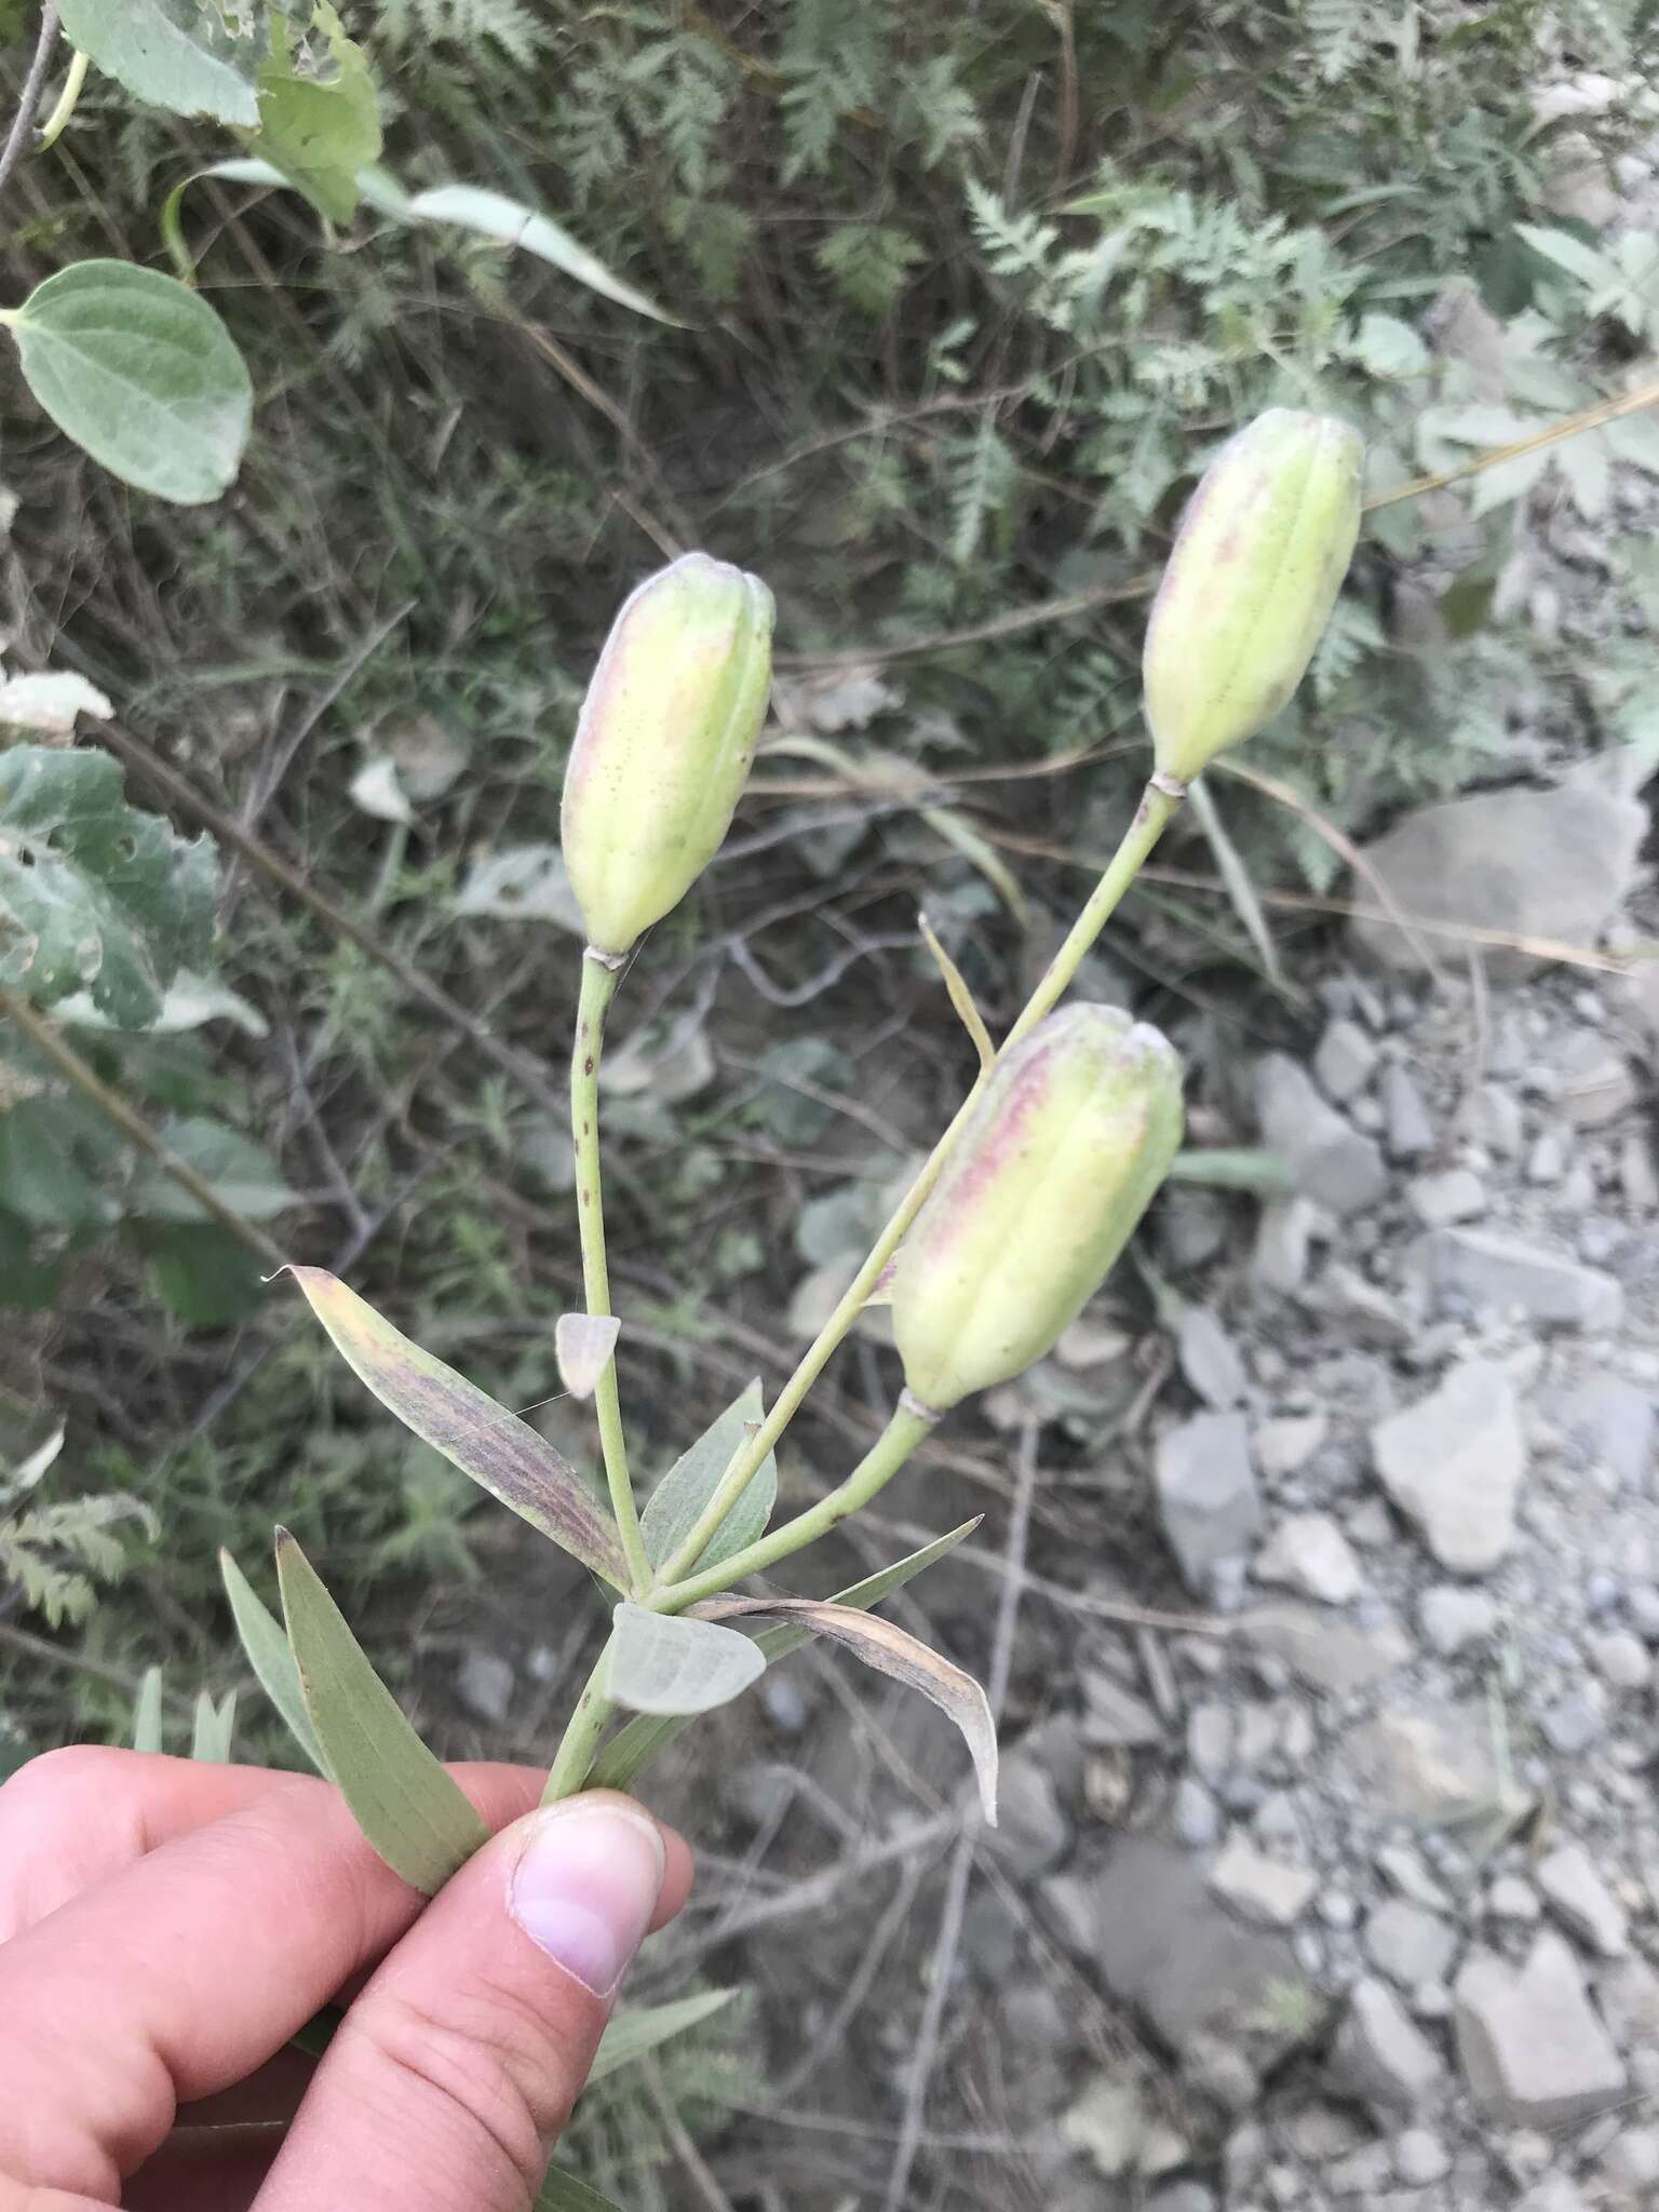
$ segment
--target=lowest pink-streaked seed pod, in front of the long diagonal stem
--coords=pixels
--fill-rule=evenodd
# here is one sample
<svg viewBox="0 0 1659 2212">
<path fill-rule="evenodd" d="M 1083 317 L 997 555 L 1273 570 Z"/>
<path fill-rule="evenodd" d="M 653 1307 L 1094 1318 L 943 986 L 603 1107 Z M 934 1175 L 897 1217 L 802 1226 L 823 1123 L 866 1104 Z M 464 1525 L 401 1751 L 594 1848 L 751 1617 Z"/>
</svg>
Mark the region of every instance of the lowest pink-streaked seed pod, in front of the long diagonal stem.
<svg viewBox="0 0 1659 2212">
<path fill-rule="evenodd" d="M 1053 1349 L 1181 1144 L 1181 1062 L 1117 1006 L 1066 1006 L 991 1077 L 898 1248 L 905 1383 L 942 1413 Z"/>
</svg>

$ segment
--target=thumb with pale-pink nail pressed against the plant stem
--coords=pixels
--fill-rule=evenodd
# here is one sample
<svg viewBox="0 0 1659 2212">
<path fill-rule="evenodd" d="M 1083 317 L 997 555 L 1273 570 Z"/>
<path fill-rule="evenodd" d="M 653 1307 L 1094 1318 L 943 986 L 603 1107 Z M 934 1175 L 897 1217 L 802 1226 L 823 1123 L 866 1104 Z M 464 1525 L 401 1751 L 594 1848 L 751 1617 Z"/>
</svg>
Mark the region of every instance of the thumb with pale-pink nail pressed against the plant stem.
<svg viewBox="0 0 1659 2212">
<path fill-rule="evenodd" d="M 257 2212 L 526 2212 L 666 1869 L 608 1792 L 502 1829 L 347 2011 Z"/>
</svg>

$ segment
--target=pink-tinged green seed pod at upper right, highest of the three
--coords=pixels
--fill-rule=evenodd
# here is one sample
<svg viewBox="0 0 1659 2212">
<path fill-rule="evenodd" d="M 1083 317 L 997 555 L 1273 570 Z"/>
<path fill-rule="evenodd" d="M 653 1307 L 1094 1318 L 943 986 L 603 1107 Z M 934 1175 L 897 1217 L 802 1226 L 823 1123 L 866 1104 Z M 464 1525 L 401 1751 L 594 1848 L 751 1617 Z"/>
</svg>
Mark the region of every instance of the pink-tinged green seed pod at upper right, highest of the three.
<svg viewBox="0 0 1659 2212">
<path fill-rule="evenodd" d="M 1146 628 L 1161 776 L 1190 783 L 1307 675 L 1354 557 L 1363 473 L 1358 431 L 1290 407 L 1256 416 L 1203 471 Z"/>
</svg>

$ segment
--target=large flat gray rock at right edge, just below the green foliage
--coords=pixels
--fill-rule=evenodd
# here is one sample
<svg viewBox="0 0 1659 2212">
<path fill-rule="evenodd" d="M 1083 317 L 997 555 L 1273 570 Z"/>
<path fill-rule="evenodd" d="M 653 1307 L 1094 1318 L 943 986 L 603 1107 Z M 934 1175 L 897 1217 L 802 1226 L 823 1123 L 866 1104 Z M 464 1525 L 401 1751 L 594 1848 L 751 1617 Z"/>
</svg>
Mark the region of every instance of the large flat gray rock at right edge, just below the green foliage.
<svg viewBox="0 0 1659 2212">
<path fill-rule="evenodd" d="M 1630 887 L 1648 814 L 1599 763 L 1553 792 L 1504 790 L 1418 807 L 1367 847 L 1407 916 L 1453 929 L 1593 945 Z M 1422 938 L 1354 918 L 1354 938 L 1391 969 L 1422 973 Z M 1444 951 L 1444 940 L 1436 940 Z M 1493 982 L 1517 982 L 1533 953 L 1486 947 Z"/>
</svg>

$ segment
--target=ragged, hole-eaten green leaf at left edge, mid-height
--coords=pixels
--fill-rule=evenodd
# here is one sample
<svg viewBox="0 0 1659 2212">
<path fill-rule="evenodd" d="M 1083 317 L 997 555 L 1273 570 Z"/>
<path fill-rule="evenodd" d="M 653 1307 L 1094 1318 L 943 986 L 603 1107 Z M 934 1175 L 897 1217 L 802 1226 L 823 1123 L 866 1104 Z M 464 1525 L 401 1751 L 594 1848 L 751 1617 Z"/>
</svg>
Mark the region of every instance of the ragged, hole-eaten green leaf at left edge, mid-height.
<svg viewBox="0 0 1659 2212">
<path fill-rule="evenodd" d="M 208 841 L 128 807 L 106 752 L 0 752 L 0 982 L 42 1006 L 86 991 L 146 1029 L 177 971 L 206 964 L 217 889 Z"/>
</svg>

